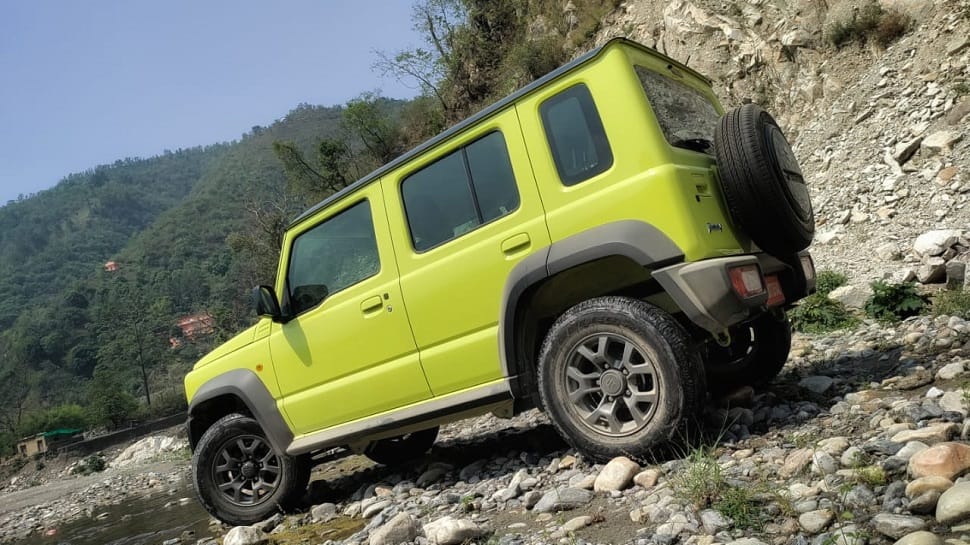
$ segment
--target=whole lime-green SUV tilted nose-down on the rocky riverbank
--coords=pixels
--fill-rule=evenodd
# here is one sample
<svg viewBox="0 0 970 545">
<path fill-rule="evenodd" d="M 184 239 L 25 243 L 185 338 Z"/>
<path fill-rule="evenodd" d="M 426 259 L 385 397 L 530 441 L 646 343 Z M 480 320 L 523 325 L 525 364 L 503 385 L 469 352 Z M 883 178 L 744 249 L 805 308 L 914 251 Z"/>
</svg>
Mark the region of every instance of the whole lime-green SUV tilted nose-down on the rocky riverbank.
<svg viewBox="0 0 970 545">
<path fill-rule="evenodd" d="M 754 105 L 617 39 L 296 218 L 253 327 L 185 377 L 202 504 L 299 499 L 310 457 L 420 456 L 538 407 L 587 456 L 643 456 L 708 387 L 771 379 L 815 221 Z"/>
</svg>

